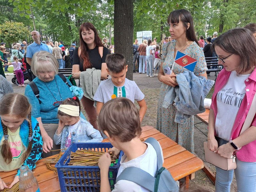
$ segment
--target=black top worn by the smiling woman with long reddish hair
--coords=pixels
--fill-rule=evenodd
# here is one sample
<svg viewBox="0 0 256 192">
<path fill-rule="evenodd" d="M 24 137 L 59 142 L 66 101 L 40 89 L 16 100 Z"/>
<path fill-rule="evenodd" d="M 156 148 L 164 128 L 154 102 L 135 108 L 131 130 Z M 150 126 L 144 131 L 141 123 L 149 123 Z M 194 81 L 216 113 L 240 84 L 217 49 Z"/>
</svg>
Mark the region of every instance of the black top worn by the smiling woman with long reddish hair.
<svg viewBox="0 0 256 192">
<path fill-rule="evenodd" d="M 103 56 L 100 57 L 99 48 L 96 46 L 94 49 L 90 49 L 88 51 L 89 54 L 89 60 L 92 64 L 92 68 L 100 69 L 101 70 L 101 64 L 106 63 L 106 57 L 109 54 L 109 51 L 106 47 L 103 47 Z M 74 50 L 73 53 L 73 65 L 79 65 L 80 71 L 84 71 L 83 66 L 84 60 L 80 60 L 78 57 L 78 48 Z"/>
</svg>

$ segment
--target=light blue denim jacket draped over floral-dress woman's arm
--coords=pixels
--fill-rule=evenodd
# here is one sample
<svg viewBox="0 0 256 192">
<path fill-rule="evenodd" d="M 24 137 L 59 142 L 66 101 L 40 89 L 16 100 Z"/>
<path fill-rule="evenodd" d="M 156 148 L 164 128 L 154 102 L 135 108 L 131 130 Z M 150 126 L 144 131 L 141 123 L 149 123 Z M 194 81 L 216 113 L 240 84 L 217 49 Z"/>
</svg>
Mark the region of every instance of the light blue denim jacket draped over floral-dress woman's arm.
<svg viewBox="0 0 256 192">
<path fill-rule="evenodd" d="M 186 119 L 191 115 L 203 113 L 204 98 L 211 90 L 214 81 L 203 76 L 196 76 L 187 70 L 176 76 L 179 86 L 170 86 L 163 102 L 163 107 L 168 108 L 172 103 L 177 108 L 175 122 L 186 124 Z"/>
</svg>

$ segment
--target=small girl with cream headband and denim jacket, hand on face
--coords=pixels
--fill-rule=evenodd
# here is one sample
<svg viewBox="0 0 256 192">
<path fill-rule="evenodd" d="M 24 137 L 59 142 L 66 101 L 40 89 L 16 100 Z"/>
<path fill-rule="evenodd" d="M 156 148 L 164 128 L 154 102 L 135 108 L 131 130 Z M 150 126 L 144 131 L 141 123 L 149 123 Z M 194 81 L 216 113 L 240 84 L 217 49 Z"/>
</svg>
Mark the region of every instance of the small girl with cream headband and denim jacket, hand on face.
<svg viewBox="0 0 256 192">
<path fill-rule="evenodd" d="M 59 127 L 53 137 L 61 149 L 73 143 L 101 142 L 100 132 L 86 120 L 80 118 L 80 101 L 78 97 L 68 98 L 58 108 Z"/>
</svg>

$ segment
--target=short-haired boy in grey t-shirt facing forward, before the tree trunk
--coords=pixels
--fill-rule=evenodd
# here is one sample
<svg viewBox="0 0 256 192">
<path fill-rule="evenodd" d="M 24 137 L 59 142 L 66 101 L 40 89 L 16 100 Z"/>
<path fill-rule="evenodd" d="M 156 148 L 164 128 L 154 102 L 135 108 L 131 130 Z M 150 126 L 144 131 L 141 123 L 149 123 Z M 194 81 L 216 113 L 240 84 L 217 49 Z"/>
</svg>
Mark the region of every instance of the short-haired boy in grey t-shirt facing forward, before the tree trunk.
<svg viewBox="0 0 256 192">
<path fill-rule="evenodd" d="M 132 102 L 134 100 L 138 102 L 141 122 L 147 110 L 146 101 L 144 100 L 144 94 L 140 91 L 137 84 L 125 78 L 128 65 L 126 65 L 124 56 L 119 53 L 110 54 L 106 58 L 106 63 L 107 71 L 111 78 L 100 82 L 93 97 L 93 100 L 97 101 L 97 115 L 99 115 L 104 103 L 116 97 L 126 97 Z"/>
</svg>

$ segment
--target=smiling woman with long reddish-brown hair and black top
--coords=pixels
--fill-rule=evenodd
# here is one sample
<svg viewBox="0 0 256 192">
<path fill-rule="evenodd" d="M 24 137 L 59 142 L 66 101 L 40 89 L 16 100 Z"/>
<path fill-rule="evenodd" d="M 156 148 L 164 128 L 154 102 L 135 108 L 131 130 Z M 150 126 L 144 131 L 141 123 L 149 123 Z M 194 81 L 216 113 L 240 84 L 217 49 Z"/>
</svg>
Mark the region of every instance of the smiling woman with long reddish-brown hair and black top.
<svg viewBox="0 0 256 192">
<path fill-rule="evenodd" d="M 105 59 L 109 51 L 101 43 L 96 28 L 90 22 L 83 23 L 79 35 L 80 47 L 76 48 L 73 53 L 72 76 L 79 79 L 82 71 L 95 68 L 101 70 L 100 79 L 107 79 L 108 72 Z M 81 101 L 89 122 L 95 129 L 98 129 L 96 109 L 93 106 L 94 100 L 84 96 Z"/>
</svg>

